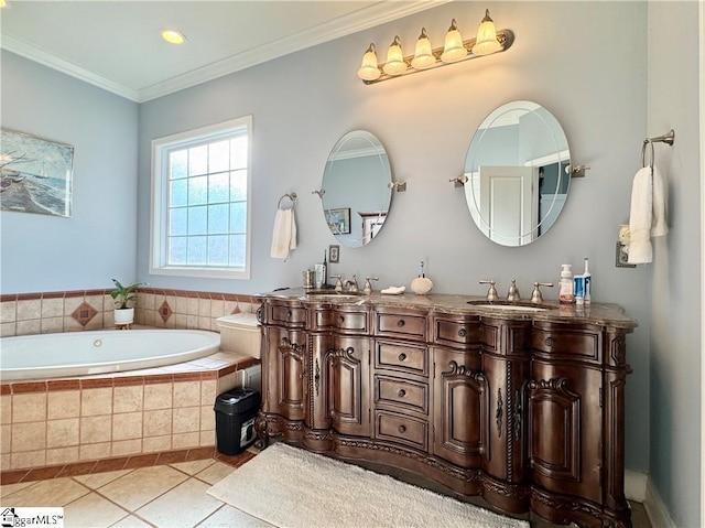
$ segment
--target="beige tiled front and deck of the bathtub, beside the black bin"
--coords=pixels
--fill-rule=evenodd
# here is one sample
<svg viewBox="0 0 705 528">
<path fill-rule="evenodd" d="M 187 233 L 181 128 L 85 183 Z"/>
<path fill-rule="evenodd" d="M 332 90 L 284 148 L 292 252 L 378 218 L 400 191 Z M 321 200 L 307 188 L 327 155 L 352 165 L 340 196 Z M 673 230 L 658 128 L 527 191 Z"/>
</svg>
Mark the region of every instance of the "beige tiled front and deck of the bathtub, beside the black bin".
<svg viewBox="0 0 705 528">
<path fill-rule="evenodd" d="M 258 365 L 219 352 L 113 375 L 0 384 L 0 467 L 58 467 L 212 448 L 215 397 Z"/>
</svg>

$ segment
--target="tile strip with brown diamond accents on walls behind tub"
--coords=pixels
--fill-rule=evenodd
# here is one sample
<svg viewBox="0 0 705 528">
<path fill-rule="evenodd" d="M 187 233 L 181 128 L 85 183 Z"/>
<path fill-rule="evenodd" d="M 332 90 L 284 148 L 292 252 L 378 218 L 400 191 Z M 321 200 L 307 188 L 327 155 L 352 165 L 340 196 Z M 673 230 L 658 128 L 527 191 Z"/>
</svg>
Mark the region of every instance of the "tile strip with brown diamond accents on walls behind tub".
<svg viewBox="0 0 705 528">
<path fill-rule="evenodd" d="M 0 295 L 0 336 L 112 327 L 115 305 L 109 291 Z M 138 291 L 135 323 L 158 328 L 218 332 L 218 317 L 254 312 L 258 305 L 250 295 L 142 288 Z"/>
</svg>

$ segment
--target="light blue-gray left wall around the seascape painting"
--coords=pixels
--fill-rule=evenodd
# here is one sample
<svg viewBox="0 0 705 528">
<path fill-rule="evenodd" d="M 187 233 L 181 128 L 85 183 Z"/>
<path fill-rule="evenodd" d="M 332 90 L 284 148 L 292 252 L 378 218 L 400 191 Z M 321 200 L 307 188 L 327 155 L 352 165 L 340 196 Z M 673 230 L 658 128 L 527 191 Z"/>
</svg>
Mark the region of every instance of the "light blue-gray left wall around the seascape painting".
<svg viewBox="0 0 705 528">
<path fill-rule="evenodd" d="M 2 51 L 2 127 L 74 147 L 73 216 L 2 212 L 2 293 L 110 288 L 137 255 L 139 106 Z"/>
</svg>

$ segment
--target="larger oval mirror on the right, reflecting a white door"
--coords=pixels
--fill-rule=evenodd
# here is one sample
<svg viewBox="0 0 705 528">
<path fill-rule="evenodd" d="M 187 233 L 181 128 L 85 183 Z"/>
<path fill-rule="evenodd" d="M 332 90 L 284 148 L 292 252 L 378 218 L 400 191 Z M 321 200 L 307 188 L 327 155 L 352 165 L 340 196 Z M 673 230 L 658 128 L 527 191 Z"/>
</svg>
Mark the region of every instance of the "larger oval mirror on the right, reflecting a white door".
<svg viewBox="0 0 705 528">
<path fill-rule="evenodd" d="M 571 184 L 568 141 L 541 105 L 520 100 L 492 111 L 465 160 L 465 198 L 477 227 L 502 246 L 532 243 L 555 223 Z"/>
</svg>

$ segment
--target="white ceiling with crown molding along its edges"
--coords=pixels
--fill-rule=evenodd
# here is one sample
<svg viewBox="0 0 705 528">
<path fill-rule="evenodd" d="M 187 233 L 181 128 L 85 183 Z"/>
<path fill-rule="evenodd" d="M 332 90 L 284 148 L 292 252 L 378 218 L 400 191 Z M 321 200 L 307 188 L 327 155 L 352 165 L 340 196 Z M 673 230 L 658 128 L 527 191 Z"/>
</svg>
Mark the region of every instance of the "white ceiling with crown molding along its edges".
<svg viewBox="0 0 705 528">
<path fill-rule="evenodd" d="M 0 45 L 142 103 L 446 1 L 7 0 Z"/>
</svg>

